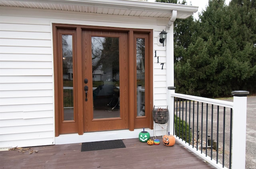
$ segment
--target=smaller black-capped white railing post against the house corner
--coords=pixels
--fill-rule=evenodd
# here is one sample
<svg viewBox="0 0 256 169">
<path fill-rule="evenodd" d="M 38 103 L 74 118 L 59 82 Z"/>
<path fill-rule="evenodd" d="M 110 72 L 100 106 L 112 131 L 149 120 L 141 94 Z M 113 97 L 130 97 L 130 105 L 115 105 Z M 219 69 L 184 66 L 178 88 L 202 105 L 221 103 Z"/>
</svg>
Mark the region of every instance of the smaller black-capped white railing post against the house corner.
<svg viewBox="0 0 256 169">
<path fill-rule="evenodd" d="M 174 135 L 174 97 L 172 93 L 175 93 L 176 87 L 168 87 L 168 111 L 169 111 L 169 120 L 168 120 L 168 129 L 167 132 Z"/>
</svg>

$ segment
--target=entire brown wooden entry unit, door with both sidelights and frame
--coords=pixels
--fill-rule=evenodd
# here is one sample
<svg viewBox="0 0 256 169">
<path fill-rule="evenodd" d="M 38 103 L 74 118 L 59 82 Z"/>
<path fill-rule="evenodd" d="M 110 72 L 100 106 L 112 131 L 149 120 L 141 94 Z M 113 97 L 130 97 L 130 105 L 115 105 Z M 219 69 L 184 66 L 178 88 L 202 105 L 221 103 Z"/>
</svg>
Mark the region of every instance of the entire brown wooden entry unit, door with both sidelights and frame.
<svg viewBox="0 0 256 169">
<path fill-rule="evenodd" d="M 152 128 L 152 30 L 53 24 L 53 35 L 56 136 Z"/>
</svg>

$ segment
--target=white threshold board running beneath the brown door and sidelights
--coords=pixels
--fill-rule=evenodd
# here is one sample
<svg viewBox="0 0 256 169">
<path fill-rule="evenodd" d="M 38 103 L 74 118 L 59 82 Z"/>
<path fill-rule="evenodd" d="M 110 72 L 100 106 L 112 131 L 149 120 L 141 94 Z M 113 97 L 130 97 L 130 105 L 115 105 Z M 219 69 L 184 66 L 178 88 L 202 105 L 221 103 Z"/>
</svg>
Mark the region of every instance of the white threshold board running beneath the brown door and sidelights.
<svg viewBox="0 0 256 169">
<path fill-rule="evenodd" d="M 123 140 L 131 138 L 139 138 L 140 132 L 143 129 L 130 130 L 113 130 L 103 132 L 88 132 L 83 135 L 78 134 L 62 134 L 55 137 L 55 144 L 72 144 L 72 143 L 84 143 L 92 141 L 108 141 L 108 140 Z M 150 137 L 153 137 L 153 130 L 145 128 L 145 131 L 149 132 Z"/>
</svg>

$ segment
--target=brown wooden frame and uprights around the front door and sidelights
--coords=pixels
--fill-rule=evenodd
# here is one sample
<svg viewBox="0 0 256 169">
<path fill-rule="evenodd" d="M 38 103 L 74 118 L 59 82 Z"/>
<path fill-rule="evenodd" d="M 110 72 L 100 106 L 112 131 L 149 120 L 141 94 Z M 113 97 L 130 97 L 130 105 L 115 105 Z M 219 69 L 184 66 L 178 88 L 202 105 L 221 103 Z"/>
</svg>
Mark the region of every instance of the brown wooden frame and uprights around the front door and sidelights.
<svg viewBox="0 0 256 169">
<path fill-rule="evenodd" d="M 136 82 L 135 82 L 135 76 L 136 76 L 136 59 L 134 59 L 134 43 L 136 43 L 136 39 L 134 39 L 134 34 L 136 33 L 148 33 L 149 35 L 149 46 L 148 46 L 148 101 L 146 104 L 146 114 L 149 116 L 149 128 L 153 128 L 153 119 L 152 119 L 152 109 L 153 109 L 153 30 L 152 29 L 128 29 L 128 28 L 111 28 L 111 27 L 100 27 L 100 26 L 81 26 L 81 25 L 69 25 L 69 24 L 52 24 L 53 28 L 53 55 L 54 55 L 54 109 L 55 109 L 55 136 L 60 135 L 60 117 L 59 112 L 62 110 L 63 105 L 63 97 L 62 97 L 62 88 L 60 82 L 62 81 L 62 72 L 59 70 L 62 70 L 61 63 L 58 59 L 58 54 L 60 52 L 57 42 L 57 29 L 61 28 L 67 28 L 67 29 L 76 29 L 76 33 L 74 35 L 74 46 L 76 46 L 74 49 L 75 51 L 75 59 L 74 64 L 76 64 L 76 79 L 74 83 L 74 87 L 77 87 L 78 89 L 83 88 L 83 82 L 82 82 L 82 63 L 79 62 L 79 60 L 82 60 L 82 45 L 81 45 L 81 34 L 82 29 L 92 29 L 92 30 L 105 30 L 105 31 L 126 31 L 128 32 L 128 55 L 129 55 L 129 97 L 128 97 L 128 107 L 129 107 L 129 130 L 133 131 L 135 128 L 135 118 L 136 114 Z M 73 70 L 75 71 L 75 70 Z M 83 90 L 82 90 L 83 91 Z M 61 98 L 62 97 L 62 98 Z M 84 113 L 83 113 L 83 92 L 77 92 L 76 96 L 74 98 L 74 107 L 76 106 L 76 110 L 74 108 L 74 113 L 76 114 L 77 120 L 77 132 L 79 135 L 84 134 Z"/>
</svg>

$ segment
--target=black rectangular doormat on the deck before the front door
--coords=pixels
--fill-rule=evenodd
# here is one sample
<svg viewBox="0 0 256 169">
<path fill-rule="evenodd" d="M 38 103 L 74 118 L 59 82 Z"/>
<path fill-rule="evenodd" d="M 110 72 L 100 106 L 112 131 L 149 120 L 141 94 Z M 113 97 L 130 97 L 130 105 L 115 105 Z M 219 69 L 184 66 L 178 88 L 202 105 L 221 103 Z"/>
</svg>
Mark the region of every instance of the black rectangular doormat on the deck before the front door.
<svg viewBox="0 0 256 169">
<path fill-rule="evenodd" d="M 81 151 L 95 151 L 116 148 L 125 148 L 124 142 L 122 140 L 110 140 L 82 143 Z"/>
</svg>

